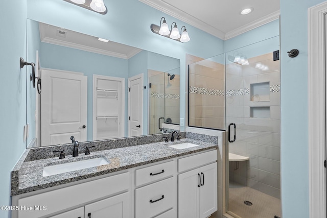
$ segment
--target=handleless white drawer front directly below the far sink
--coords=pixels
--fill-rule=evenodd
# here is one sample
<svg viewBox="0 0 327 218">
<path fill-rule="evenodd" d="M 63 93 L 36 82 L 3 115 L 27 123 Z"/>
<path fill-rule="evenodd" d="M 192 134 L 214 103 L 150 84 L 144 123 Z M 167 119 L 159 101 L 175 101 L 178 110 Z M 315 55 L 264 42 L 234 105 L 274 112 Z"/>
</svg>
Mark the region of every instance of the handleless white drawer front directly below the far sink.
<svg viewBox="0 0 327 218">
<path fill-rule="evenodd" d="M 178 159 L 178 173 L 217 161 L 217 150 Z"/>
</svg>

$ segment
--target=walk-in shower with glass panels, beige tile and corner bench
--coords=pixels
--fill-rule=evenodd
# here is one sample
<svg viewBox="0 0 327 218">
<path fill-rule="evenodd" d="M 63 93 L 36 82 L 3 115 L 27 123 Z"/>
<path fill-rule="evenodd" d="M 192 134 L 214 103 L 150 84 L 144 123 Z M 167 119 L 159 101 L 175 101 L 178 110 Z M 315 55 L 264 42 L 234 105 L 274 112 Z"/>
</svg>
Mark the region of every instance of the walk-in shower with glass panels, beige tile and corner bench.
<svg viewBox="0 0 327 218">
<path fill-rule="evenodd" d="M 226 132 L 218 201 L 233 217 L 281 217 L 278 50 L 277 36 L 189 65 L 189 126 Z"/>
</svg>

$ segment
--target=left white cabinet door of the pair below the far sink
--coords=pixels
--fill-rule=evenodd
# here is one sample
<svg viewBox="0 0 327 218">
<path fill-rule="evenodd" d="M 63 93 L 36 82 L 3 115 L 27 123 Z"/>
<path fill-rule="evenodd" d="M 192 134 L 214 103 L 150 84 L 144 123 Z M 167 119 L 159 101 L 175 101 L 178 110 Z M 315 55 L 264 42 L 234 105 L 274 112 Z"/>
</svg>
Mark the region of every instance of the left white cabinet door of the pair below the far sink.
<svg viewBox="0 0 327 218">
<path fill-rule="evenodd" d="M 200 215 L 200 171 L 193 169 L 178 175 L 178 217 Z"/>
</svg>

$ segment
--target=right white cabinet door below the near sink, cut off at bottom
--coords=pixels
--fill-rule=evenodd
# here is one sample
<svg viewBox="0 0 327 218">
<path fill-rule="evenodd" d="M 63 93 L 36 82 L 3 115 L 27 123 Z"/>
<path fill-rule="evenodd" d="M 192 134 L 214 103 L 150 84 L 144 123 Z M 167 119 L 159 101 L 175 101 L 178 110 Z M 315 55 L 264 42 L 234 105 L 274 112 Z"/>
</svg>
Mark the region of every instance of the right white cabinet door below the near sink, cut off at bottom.
<svg viewBox="0 0 327 218">
<path fill-rule="evenodd" d="M 85 205 L 85 218 L 128 218 L 130 192 Z"/>
</svg>

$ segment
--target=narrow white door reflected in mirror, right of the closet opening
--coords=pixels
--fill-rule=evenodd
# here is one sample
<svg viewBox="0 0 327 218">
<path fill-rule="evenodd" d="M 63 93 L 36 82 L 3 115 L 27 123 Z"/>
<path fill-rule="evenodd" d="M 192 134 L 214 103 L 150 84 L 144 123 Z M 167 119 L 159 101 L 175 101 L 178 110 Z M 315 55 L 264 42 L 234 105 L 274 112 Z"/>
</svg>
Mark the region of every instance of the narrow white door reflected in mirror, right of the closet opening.
<svg viewBox="0 0 327 218">
<path fill-rule="evenodd" d="M 128 136 L 143 135 L 143 74 L 128 78 Z"/>
</svg>

